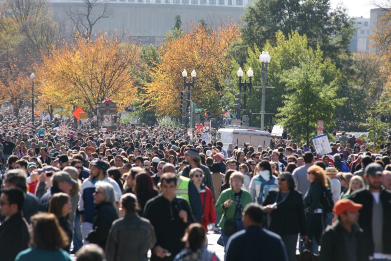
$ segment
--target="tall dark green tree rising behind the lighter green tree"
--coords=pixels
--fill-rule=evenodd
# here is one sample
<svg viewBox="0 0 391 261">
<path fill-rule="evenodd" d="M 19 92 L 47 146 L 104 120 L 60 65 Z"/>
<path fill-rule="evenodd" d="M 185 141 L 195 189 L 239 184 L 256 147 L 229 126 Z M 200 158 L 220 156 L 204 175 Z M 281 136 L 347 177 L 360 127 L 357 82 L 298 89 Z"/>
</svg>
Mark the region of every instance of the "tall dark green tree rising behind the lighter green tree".
<svg viewBox="0 0 391 261">
<path fill-rule="evenodd" d="M 353 21 L 345 7 L 330 7 L 329 0 L 255 0 L 247 5 L 243 15 L 242 38 L 252 46 L 276 41 L 276 32 L 286 38 L 292 31 L 307 35 L 309 44 L 317 44 L 333 61 L 340 59 L 354 35 Z"/>
</svg>

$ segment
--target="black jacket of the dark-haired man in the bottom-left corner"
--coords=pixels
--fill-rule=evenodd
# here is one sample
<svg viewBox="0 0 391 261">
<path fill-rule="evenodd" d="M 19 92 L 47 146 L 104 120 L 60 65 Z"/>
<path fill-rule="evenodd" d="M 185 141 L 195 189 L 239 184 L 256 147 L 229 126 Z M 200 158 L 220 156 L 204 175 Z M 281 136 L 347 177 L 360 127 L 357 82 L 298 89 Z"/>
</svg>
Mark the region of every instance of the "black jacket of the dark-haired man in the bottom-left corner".
<svg viewBox="0 0 391 261">
<path fill-rule="evenodd" d="M 13 261 L 16 255 L 28 247 L 28 224 L 21 213 L 9 217 L 0 225 L 1 261 Z"/>
</svg>

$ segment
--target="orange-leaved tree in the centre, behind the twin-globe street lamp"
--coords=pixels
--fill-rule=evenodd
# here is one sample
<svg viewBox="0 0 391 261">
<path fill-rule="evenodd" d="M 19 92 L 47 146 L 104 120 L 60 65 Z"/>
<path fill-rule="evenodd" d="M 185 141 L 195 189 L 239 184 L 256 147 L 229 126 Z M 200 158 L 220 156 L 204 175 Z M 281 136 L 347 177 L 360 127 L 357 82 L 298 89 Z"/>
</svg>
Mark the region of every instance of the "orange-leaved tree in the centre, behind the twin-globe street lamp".
<svg viewBox="0 0 391 261">
<path fill-rule="evenodd" d="M 167 40 L 159 49 L 160 63 L 152 69 L 147 84 L 145 104 L 156 115 L 179 116 L 180 92 L 183 91 L 182 71 L 197 72 L 192 101 L 212 113 L 220 111 L 220 97 L 226 91 L 224 79 L 231 72 L 229 46 L 237 41 L 239 28 L 233 22 L 204 27 L 188 24 L 189 29 L 178 38 Z"/>
</svg>

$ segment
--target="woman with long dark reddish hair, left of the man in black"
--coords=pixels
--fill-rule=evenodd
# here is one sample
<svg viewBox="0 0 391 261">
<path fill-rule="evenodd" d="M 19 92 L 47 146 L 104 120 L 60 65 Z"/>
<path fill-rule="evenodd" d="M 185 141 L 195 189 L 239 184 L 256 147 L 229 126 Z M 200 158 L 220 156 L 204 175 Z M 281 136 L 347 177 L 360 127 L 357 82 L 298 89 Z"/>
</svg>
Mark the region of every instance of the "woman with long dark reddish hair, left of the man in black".
<svg viewBox="0 0 391 261">
<path fill-rule="evenodd" d="M 147 172 L 140 172 L 136 175 L 136 191 L 137 201 L 140 206 L 138 214 L 142 215 L 145 203 L 159 194 L 151 175 Z"/>
</svg>

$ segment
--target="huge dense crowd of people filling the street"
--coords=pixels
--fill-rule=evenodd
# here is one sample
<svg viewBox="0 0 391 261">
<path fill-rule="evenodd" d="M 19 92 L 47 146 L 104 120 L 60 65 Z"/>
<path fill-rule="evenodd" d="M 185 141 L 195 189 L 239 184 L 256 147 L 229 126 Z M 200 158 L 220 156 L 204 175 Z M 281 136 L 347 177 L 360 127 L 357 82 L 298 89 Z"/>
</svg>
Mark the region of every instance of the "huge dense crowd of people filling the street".
<svg viewBox="0 0 391 261">
<path fill-rule="evenodd" d="M 324 261 L 391 259 L 387 144 L 376 155 L 343 132 L 320 156 L 282 138 L 225 146 L 145 124 L 63 134 L 67 119 L 22 117 L 0 125 L 1 260 L 218 260 L 208 232 L 227 261 L 294 261 L 298 242 Z"/>
</svg>

